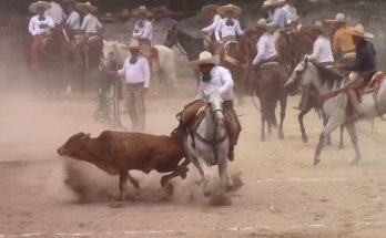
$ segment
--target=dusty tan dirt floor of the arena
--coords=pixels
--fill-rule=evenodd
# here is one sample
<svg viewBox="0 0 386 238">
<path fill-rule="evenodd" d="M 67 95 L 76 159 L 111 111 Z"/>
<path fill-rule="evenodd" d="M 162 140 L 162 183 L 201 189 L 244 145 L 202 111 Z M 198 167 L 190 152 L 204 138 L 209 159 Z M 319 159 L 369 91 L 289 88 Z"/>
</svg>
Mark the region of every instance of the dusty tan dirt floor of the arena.
<svg viewBox="0 0 386 238">
<path fill-rule="evenodd" d="M 192 84 L 194 85 L 194 84 Z M 193 97 L 193 90 L 166 101 L 148 95 L 148 131 L 169 134 L 174 115 Z M 0 95 L 0 237 L 385 237 L 386 123 L 358 125 L 363 161 L 349 166 L 354 151 L 333 146 L 313 166 L 322 122 L 305 118 L 309 142 L 303 144 L 298 97 L 288 102 L 285 138 L 273 134 L 260 142 L 260 112 L 250 99 L 237 106 L 244 128 L 231 174 L 245 183 L 230 193 L 231 206 L 213 207 L 195 185 L 193 167 L 185 180 L 175 178 L 174 197 L 165 199 L 160 175 L 133 173 L 141 183 L 132 200 L 111 206 L 118 178 L 94 166 L 57 155 L 57 148 L 78 132 L 99 135 L 108 126 L 92 118 L 91 96 L 45 100 L 30 94 Z M 122 122 L 129 126 L 126 114 Z M 71 173 L 69 174 L 69 168 Z M 211 170 L 217 176 L 217 170 Z M 85 198 L 65 184 L 75 179 Z"/>
</svg>

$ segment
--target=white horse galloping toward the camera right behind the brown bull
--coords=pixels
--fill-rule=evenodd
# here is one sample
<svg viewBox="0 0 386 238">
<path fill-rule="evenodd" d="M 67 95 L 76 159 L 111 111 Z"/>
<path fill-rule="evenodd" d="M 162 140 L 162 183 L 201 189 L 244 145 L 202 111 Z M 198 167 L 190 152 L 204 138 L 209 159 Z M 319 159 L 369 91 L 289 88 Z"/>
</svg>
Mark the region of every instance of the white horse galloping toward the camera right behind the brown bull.
<svg viewBox="0 0 386 238">
<path fill-rule="evenodd" d="M 209 167 L 212 165 L 219 166 L 221 188 L 231 186 L 226 172 L 230 139 L 224 124 L 223 100 L 217 90 L 207 90 L 205 95 L 207 105 L 190 126 L 192 136 L 185 137 L 184 146 L 187 157 L 201 175 L 204 195 L 209 195 Z"/>
</svg>

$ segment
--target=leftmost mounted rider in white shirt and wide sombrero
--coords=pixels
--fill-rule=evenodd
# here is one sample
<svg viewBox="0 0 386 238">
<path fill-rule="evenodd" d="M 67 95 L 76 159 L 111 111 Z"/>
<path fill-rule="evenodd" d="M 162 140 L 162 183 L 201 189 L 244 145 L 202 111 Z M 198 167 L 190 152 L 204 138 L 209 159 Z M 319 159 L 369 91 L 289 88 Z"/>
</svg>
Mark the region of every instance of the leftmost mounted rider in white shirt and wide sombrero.
<svg viewBox="0 0 386 238">
<path fill-rule="evenodd" d="M 50 9 L 50 3 L 45 1 L 38 1 L 30 4 L 29 10 L 33 13 L 30 20 L 28 30 L 33 37 L 31 42 L 31 69 L 35 69 L 39 65 L 39 51 L 43 46 L 43 39 L 50 34 L 51 30 L 55 27 L 50 17 L 44 15 L 44 11 Z"/>
</svg>

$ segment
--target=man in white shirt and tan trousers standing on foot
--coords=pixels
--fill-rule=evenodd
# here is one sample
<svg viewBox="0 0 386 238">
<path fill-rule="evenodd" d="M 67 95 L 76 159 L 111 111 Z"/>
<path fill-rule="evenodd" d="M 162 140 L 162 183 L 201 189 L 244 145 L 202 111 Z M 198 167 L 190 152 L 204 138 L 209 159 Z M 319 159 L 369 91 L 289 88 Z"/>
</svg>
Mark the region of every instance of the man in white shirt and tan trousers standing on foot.
<svg viewBox="0 0 386 238">
<path fill-rule="evenodd" d="M 131 120 L 132 130 L 145 130 L 145 103 L 144 94 L 149 90 L 150 69 L 148 60 L 140 53 L 140 43 L 132 40 L 129 48 L 131 56 L 128 56 L 118 75 L 125 80 L 125 105 Z"/>
</svg>

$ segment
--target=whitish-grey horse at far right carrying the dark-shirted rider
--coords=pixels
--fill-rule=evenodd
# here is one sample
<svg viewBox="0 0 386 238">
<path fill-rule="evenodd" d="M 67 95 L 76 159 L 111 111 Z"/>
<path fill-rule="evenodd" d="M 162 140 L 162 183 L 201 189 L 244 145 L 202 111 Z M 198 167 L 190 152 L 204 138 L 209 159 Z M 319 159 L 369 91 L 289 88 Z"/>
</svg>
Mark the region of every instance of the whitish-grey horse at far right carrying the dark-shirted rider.
<svg viewBox="0 0 386 238">
<path fill-rule="evenodd" d="M 349 137 L 355 148 L 355 159 L 352 165 L 355 165 L 362 158 L 358 139 L 356 135 L 355 123 L 346 121 L 346 107 L 347 95 L 342 90 L 343 81 L 334 79 L 324 79 L 321 76 L 319 70 L 308 62 L 308 58 L 305 56 L 303 61 L 295 68 L 285 87 L 290 91 L 291 95 L 298 92 L 298 86 L 314 85 L 319 95 L 327 95 L 332 91 L 336 91 L 337 95 L 326 100 L 323 104 L 324 112 L 327 116 L 327 124 L 324 127 L 319 143 L 315 151 L 314 165 L 321 162 L 321 153 L 325 144 L 326 137 L 335 131 L 339 125 L 345 125 Z M 365 112 L 364 118 L 370 120 L 382 116 L 386 113 L 386 81 L 383 79 L 379 90 L 363 95 L 360 103 L 362 108 Z"/>
</svg>

